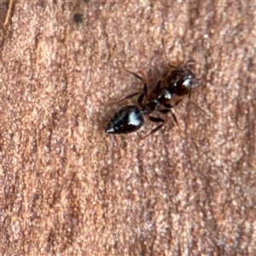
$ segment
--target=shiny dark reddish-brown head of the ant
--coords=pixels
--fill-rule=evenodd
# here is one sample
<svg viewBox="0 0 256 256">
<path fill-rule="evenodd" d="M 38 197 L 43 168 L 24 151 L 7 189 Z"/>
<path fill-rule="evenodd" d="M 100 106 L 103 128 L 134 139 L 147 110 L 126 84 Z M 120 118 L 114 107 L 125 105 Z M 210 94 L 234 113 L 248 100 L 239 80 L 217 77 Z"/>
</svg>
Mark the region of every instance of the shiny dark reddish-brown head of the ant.
<svg viewBox="0 0 256 256">
<path fill-rule="evenodd" d="M 167 84 L 169 90 L 177 94 L 177 96 L 184 96 L 189 93 L 189 90 L 195 88 L 199 81 L 195 79 L 195 74 L 188 69 L 188 62 L 185 66 L 174 69 L 167 77 Z"/>
</svg>

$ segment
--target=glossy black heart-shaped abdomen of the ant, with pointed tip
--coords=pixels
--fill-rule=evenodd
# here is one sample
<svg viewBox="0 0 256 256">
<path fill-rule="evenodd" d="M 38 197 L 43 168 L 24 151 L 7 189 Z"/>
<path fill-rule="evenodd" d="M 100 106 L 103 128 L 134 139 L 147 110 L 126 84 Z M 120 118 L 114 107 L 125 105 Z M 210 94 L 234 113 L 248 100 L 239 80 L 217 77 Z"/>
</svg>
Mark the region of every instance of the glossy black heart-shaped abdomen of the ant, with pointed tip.
<svg viewBox="0 0 256 256">
<path fill-rule="evenodd" d="M 130 133 L 139 130 L 144 123 L 143 113 L 136 106 L 126 106 L 110 120 L 107 133 Z"/>
</svg>

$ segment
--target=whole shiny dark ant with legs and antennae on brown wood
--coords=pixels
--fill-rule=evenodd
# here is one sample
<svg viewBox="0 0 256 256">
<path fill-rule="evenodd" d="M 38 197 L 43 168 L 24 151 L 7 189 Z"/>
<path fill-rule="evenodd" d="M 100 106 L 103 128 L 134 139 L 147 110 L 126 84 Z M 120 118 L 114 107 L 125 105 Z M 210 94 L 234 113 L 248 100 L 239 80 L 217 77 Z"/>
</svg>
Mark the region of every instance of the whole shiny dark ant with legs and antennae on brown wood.
<svg viewBox="0 0 256 256">
<path fill-rule="evenodd" d="M 166 55 L 166 48 L 164 39 L 162 39 L 162 45 Z M 166 55 L 167 60 L 167 55 Z M 196 79 L 195 74 L 189 70 L 189 65 L 193 64 L 194 61 L 188 61 L 183 67 L 176 67 L 171 65 L 168 62 L 168 66 L 173 70 L 166 78 L 166 87 L 161 87 L 161 80 L 156 85 L 154 91 L 156 96 L 148 101 L 143 103 L 143 98 L 146 96 L 148 98 L 148 85 L 144 82 L 143 78 L 137 75 L 137 73 L 132 73 L 128 70 L 125 70 L 128 73 L 134 75 L 137 79 L 143 81 L 143 92 L 132 93 L 129 96 L 126 96 L 119 102 L 122 102 L 125 99 L 129 99 L 134 96 L 138 96 L 137 102 L 141 108 L 137 108 L 135 105 L 129 105 L 124 108 L 121 108 L 110 120 L 108 127 L 106 129 L 107 133 L 130 133 L 133 131 L 139 130 L 144 123 L 144 116 L 153 113 L 155 110 L 158 110 L 162 105 L 164 108 L 160 109 L 160 113 L 172 113 L 172 118 L 177 124 L 177 118 L 172 112 L 172 108 L 177 106 L 182 101 L 183 96 L 188 95 L 189 102 L 191 102 L 196 108 L 198 108 L 202 113 L 209 116 L 203 109 L 201 109 L 195 102 L 190 100 L 192 90 L 198 86 L 201 79 Z M 170 103 L 171 102 L 171 103 Z M 153 116 L 148 116 L 148 118 L 155 122 L 160 123 L 156 128 L 154 128 L 146 137 L 153 134 L 155 131 L 160 130 L 164 125 L 165 119 L 156 118 Z M 145 138 L 145 137 L 143 137 Z"/>
</svg>

